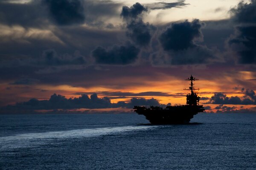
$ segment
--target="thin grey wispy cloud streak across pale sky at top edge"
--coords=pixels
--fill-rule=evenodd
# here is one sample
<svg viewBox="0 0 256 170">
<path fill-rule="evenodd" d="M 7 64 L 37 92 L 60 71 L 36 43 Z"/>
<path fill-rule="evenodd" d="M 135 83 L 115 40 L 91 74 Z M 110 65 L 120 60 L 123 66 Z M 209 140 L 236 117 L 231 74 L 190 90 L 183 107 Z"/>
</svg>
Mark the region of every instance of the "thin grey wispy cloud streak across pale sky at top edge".
<svg viewBox="0 0 256 170">
<path fill-rule="evenodd" d="M 187 5 L 189 5 L 189 3 L 185 3 L 185 0 L 178 0 L 177 2 L 173 2 L 173 3 L 159 2 L 159 3 L 145 4 L 145 6 L 147 6 L 151 10 L 180 8 L 180 7 L 187 6 Z"/>
</svg>

